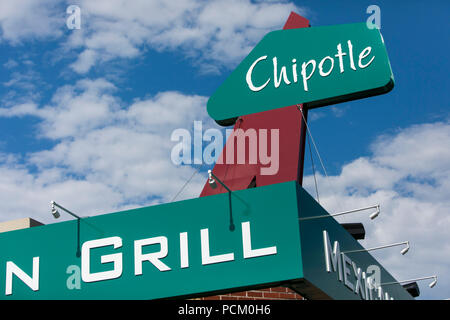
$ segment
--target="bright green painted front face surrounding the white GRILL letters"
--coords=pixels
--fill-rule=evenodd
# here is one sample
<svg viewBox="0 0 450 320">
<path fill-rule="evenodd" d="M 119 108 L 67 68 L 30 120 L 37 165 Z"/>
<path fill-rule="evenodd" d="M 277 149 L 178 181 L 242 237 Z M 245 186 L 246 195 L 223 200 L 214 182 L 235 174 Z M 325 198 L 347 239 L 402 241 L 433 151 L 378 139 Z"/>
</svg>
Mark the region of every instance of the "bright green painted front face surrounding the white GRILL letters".
<svg viewBox="0 0 450 320">
<path fill-rule="evenodd" d="M 84 218 L 79 230 L 77 220 L 73 220 L 0 234 L 0 298 L 158 299 L 302 278 L 296 185 L 233 192 L 234 231 L 229 228 L 228 196 L 220 194 Z M 280 201 L 284 203 L 282 210 Z M 252 248 L 276 246 L 277 254 L 243 258 L 241 223 L 247 221 Z M 233 252 L 234 261 L 202 265 L 200 230 L 204 228 L 209 230 L 211 255 Z M 188 233 L 188 268 L 180 268 L 181 232 Z M 122 275 L 112 280 L 81 282 L 80 289 L 69 290 L 67 281 L 71 274 L 66 271 L 71 265 L 81 266 L 78 247 L 88 240 L 113 236 L 122 238 L 122 247 L 93 249 L 91 272 L 113 269 L 112 263 L 100 263 L 101 255 L 122 253 Z M 143 274 L 136 276 L 134 241 L 157 236 L 168 239 L 168 255 L 161 261 L 171 270 L 161 272 L 150 262 L 143 262 Z M 143 252 L 159 250 L 159 245 L 153 245 L 144 247 Z M 6 261 L 13 261 L 31 276 L 33 257 L 40 259 L 39 290 L 32 291 L 14 276 L 13 294 L 4 295 Z"/>
</svg>

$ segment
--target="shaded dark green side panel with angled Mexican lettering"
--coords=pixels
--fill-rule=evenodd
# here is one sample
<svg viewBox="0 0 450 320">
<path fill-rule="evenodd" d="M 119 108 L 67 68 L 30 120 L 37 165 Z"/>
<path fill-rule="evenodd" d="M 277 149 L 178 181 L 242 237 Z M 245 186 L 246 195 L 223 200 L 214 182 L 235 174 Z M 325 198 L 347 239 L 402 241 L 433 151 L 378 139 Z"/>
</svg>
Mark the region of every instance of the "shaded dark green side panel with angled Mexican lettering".
<svg viewBox="0 0 450 320">
<path fill-rule="evenodd" d="M 304 189 L 298 189 L 304 281 L 293 287 L 310 299 L 411 300 L 397 280 Z M 307 218 L 302 220 L 303 218 Z M 348 253 L 347 253 L 348 252 Z M 381 284 L 381 285 L 380 285 Z"/>
</svg>

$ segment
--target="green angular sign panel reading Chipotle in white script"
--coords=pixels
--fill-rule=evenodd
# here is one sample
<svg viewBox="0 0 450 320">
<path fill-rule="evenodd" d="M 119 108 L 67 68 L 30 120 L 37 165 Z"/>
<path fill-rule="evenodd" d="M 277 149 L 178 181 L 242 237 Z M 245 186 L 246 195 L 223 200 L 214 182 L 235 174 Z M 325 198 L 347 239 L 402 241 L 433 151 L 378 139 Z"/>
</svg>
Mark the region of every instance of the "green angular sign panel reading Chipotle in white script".
<svg viewBox="0 0 450 320">
<path fill-rule="evenodd" d="M 210 97 L 217 122 L 306 103 L 309 108 L 389 92 L 383 38 L 366 23 L 268 33 Z"/>
</svg>

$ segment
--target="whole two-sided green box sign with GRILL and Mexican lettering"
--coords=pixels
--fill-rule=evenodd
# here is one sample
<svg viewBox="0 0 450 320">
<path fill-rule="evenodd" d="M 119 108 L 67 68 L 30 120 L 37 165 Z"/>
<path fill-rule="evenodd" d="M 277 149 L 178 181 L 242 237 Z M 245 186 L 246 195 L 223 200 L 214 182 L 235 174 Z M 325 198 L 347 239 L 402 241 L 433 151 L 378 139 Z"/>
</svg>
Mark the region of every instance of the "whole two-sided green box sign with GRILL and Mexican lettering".
<svg viewBox="0 0 450 320">
<path fill-rule="evenodd" d="M 229 196 L 2 233 L 0 298 L 159 299 L 283 284 L 308 298 L 376 299 L 376 290 L 362 296 L 359 269 L 395 281 L 368 253 L 327 253 L 324 231 L 342 252 L 362 247 L 333 218 L 299 220 L 327 213 L 295 181 L 233 192 L 232 211 Z M 400 285 L 385 292 L 411 298 Z"/>
</svg>

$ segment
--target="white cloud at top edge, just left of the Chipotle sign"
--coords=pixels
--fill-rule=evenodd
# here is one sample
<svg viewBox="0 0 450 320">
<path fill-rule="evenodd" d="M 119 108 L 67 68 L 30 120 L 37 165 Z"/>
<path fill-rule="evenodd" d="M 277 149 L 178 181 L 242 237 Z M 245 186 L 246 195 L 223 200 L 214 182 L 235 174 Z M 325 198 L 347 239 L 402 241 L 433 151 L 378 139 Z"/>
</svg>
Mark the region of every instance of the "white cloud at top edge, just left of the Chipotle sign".
<svg viewBox="0 0 450 320">
<path fill-rule="evenodd" d="M 202 71 L 217 72 L 280 29 L 291 11 L 304 11 L 291 2 L 250 0 L 84 0 L 80 8 L 81 32 L 66 42 L 67 49 L 81 50 L 71 65 L 78 73 L 98 62 L 136 57 L 146 47 L 182 52 Z"/>
</svg>

